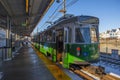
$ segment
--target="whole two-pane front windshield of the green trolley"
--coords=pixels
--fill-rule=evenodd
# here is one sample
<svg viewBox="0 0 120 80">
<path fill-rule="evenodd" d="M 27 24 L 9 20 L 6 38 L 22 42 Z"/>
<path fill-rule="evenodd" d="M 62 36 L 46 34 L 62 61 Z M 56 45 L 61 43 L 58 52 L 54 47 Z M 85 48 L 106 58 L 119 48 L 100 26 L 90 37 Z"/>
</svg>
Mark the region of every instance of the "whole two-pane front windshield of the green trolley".
<svg viewBox="0 0 120 80">
<path fill-rule="evenodd" d="M 77 43 L 95 43 L 97 42 L 97 35 L 95 28 L 76 28 L 75 42 Z"/>
</svg>

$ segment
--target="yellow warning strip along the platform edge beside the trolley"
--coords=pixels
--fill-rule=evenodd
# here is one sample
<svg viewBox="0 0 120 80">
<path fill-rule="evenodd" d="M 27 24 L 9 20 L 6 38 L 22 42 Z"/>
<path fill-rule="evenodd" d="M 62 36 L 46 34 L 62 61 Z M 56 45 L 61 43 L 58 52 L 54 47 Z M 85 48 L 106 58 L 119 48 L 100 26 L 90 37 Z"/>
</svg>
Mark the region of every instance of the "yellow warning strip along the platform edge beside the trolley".
<svg viewBox="0 0 120 80">
<path fill-rule="evenodd" d="M 39 58 L 45 63 L 45 66 L 47 66 L 47 68 L 53 74 L 53 76 L 56 78 L 56 80 L 72 80 L 55 63 L 53 63 L 52 61 L 50 61 L 47 57 L 45 57 L 42 53 L 40 53 L 34 47 L 33 47 L 33 49 L 35 50 L 35 52 L 37 53 L 37 55 L 39 56 Z"/>
</svg>

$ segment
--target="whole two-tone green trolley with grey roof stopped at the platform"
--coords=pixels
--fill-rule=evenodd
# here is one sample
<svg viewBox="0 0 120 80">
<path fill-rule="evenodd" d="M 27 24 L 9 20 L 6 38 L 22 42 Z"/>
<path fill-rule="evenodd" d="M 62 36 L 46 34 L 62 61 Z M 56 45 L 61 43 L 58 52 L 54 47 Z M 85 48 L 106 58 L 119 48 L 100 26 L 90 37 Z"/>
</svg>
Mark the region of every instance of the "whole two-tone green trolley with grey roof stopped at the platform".
<svg viewBox="0 0 120 80">
<path fill-rule="evenodd" d="M 35 47 L 64 68 L 99 58 L 99 19 L 65 15 L 39 33 Z"/>
</svg>

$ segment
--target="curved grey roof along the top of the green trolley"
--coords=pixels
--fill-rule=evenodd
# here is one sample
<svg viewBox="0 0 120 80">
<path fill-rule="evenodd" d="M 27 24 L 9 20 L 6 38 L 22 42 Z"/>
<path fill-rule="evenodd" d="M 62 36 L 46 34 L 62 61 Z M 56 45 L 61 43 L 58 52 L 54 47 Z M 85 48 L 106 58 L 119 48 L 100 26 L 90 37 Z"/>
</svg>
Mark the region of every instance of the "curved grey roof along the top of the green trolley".
<svg viewBox="0 0 120 80">
<path fill-rule="evenodd" d="M 86 15 L 81 15 L 81 16 L 73 16 L 73 15 L 67 15 L 66 17 L 61 17 L 58 20 L 54 22 L 51 26 L 49 26 L 46 30 L 55 28 L 55 26 L 61 25 L 61 24 L 66 24 L 70 22 L 78 22 L 78 23 L 91 23 L 91 24 L 99 24 L 99 18 L 94 17 L 94 16 L 86 16 Z"/>
</svg>

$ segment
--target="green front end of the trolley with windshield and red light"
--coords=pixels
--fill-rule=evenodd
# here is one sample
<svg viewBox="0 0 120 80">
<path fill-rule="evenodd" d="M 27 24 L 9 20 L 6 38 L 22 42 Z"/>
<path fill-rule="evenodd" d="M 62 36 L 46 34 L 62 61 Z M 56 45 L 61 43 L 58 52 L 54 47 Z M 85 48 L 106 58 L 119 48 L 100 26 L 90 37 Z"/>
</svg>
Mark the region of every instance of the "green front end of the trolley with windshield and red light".
<svg viewBox="0 0 120 80">
<path fill-rule="evenodd" d="M 74 25 L 73 43 L 65 44 L 63 66 L 96 62 L 99 59 L 99 21 L 89 18 Z"/>
</svg>

